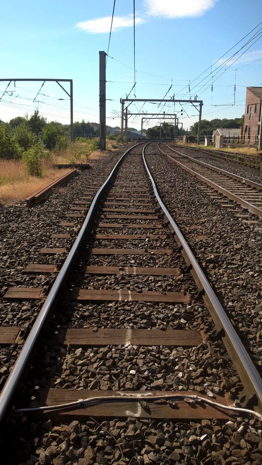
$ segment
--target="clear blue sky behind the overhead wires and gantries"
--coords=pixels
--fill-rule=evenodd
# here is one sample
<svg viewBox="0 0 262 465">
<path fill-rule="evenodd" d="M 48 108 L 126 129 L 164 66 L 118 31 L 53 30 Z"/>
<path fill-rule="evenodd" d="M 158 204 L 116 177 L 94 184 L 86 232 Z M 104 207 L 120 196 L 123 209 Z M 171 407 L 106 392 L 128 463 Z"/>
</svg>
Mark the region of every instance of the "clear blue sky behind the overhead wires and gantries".
<svg viewBox="0 0 262 465">
<path fill-rule="evenodd" d="M 108 50 L 113 3 L 2 2 L 1 78 L 73 79 L 74 120 L 99 122 L 99 50 Z M 262 1 L 136 0 L 135 5 L 136 97 L 161 99 L 172 86 L 166 98 L 198 95 L 204 103 L 203 118 L 240 117 L 245 109 L 246 87 L 262 86 L 262 38 L 258 35 L 256 43 L 247 46 L 251 45 L 249 49 L 244 47 L 233 60 L 224 66 L 222 63 L 259 32 L 262 25 L 226 53 L 262 21 Z M 223 60 L 216 62 L 224 54 Z M 131 91 L 135 79 L 133 0 L 116 0 L 108 55 L 107 124 L 116 126 L 120 125 L 120 98 Z M 218 65 L 221 68 L 216 70 Z M 0 82 L 2 121 L 39 109 L 47 121 L 69 123 L 68 96 L 56 83 L 45 83 L 36 102 L 33 100 L 41 83 L 11 83 L 4 93 L 7 84 Z M 130 97 L 134 97 L 134 89 Z M 175 109 L 173 104 L 142 105 L 130 106 L 130 112 L 179 112 L 185 128 L 198 119 L 192 106 L 183 106 L 182 116 L 178 104 Z M 155 124 L 156 120 L 151 120 L 145 127 Z M 141 116 L 130 116 L 128 125 L 139 129 Z"/>
</svg>

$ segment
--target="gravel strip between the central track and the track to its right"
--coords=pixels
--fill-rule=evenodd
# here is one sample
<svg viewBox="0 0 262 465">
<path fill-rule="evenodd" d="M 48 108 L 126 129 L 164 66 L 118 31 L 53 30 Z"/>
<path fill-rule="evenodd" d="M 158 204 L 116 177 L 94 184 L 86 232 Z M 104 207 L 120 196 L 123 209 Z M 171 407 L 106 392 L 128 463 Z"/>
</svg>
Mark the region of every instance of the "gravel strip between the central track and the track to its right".
<svg viewBox="0 0 262 465">
<path fill-rule="evenodd" d="M 146 159 L 170 213 L 175 219 L 183 212 L 188 217 L 177 222 L 261 367 L 262 220 L 227 199 L 225 203 L 232 205 L 229 212 L 201 190 L 204 183 L 164 156 L 147 155 Z M 223 199 L 222 194 L 217 196 Z M 237 217 L 244 213 L 247 217 Z M 206 237 L 199 240 L 199 235 Z"/>
</svg>

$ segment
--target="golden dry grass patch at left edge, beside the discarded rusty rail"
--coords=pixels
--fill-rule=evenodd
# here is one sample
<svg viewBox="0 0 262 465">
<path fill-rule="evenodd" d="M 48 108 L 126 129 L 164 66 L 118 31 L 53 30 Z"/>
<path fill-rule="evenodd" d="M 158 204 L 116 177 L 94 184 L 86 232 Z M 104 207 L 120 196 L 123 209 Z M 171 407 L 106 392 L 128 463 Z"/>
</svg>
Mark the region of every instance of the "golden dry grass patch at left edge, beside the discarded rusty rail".
<svg viewBox="0 0 262 465">
<path fill-rule="evenodd" d="M 30 176 L 22 161 L 0 160 L 0 202 L 12 204 L 24 200 L 69 170 L 55 170 L 44 166 L 43 177 Z"/>
</svg>

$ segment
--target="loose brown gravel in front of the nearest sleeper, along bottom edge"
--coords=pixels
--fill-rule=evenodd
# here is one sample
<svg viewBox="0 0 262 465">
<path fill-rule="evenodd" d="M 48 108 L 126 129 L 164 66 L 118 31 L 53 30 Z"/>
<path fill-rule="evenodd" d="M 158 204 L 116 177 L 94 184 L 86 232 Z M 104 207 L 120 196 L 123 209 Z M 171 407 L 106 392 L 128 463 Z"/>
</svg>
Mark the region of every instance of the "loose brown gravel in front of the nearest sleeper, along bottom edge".
<svg viewBox="0 0 262 465">
<path fill-rule="evenodd" d="M 56 425 L 21 418 L 12 433 L 3 465 L 261 465 L 262 430 L 252 419 L 90 418 Z"/>
</svg>

